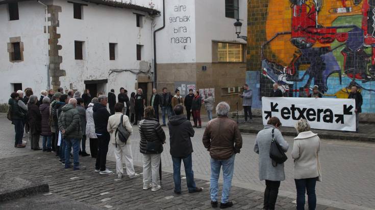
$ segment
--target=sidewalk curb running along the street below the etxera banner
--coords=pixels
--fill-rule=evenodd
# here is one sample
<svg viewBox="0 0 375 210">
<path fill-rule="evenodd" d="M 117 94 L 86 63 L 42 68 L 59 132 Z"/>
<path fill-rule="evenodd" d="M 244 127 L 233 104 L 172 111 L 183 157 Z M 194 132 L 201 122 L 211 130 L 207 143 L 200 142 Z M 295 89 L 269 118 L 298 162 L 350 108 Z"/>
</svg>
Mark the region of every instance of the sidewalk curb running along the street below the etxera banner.
<svg viewBox="0 0 375 210">
<path fill-rule="evenodd" d="M 259 130 L 257 129 L 244 129 L 240 128 L 241 133 L 252 133 L 252 134 L 258 134 Z M 297 136 L 296 132 L 290 132 L 290 131 L 283 131 L 283 135 L 286 136 Z M 353 141 L 353 136 L 348 135 L 331 135 L 331 134 L 323 134 L 319 133 L 319 138 L 322 139 L 335 139 L 335 140 L 346 140 L 346 141 Z M 369 136 L 361 136 L 355 139 L 355 141 L 362 141 L 362 142 L 375 142 L 375 137 L 369 137 Z"/>
</svg>

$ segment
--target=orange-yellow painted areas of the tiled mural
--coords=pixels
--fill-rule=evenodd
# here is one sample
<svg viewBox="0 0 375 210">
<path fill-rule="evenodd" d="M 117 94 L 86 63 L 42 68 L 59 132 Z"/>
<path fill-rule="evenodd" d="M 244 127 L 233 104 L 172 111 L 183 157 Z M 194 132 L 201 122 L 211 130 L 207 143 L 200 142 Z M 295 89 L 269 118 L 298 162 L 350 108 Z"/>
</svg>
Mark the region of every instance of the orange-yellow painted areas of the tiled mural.
<svg viewBox="0 0 375 210">
<path fill-rule="evenodd" d="M 346 7 L 355 8 L 353 12 L 330 13 L 329 11 L 334 8 L 342 8 L 341 1 L 323 0 L 322 2 L 323 6 L 318 13 L 318 23 L 324 27 L 332 26 L 332 22 L 339 16 L 361 14 L 361 10 L 358 10 L 358 8 L 362 8 L 363 4 L 362 1 L 360 5 L 355 6 L 352 1 L 346 1 Z M 312 5 L 313 1 L 307 1 L 307 4 Z M 270 40 L 277 33 L 291 31 L 292 8 L 290 6 L 291 4 L 289 0 L 269 0 L 266 23 L 267 40 Z M 297 48 L 290 43 L 290 38 L 290 35 L 279 35 L 276 39 L 268 44 L 272 52 L 276 54 L 280 64 L 283 66 L 288 66 L 293 59 L 293 53 L 295 50 L 297 50 Z M 313 47 L 329 46 L 331 46 L 331 44 L 320 44 L 319 42 L 316 42 Z M 281 49 L 283 49 L 283 52 L 278 53 Z"/>
</svg>

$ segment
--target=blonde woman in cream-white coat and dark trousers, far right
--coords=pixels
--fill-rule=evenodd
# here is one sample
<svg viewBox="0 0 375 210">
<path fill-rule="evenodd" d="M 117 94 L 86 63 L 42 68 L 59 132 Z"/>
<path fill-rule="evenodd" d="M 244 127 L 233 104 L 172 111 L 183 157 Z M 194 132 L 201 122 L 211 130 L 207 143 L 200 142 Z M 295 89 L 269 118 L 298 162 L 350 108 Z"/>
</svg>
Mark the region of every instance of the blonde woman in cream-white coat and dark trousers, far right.
<svg viewBox="0 0 375 210">
<path fill-rule="evenodd" d="M 295 124 L 298 136 L 294 138 L 292 158 L 294 159 L 294 181 L 297 190 L 297 210 L 305 209 L 307 191 L 309 210 L 316 208 L 315 185 L 321 182 L 319 162 L 320 140 L 318 134 L 310 131 L 306 119 Z"/>
</svg>

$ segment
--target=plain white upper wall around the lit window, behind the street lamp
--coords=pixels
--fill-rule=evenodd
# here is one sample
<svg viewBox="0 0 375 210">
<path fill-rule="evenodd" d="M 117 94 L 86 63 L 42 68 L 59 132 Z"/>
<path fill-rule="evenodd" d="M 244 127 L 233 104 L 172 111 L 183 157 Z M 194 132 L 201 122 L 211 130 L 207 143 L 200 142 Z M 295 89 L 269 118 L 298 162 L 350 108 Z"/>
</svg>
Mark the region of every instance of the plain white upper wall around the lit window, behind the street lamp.
<svg viewBox="0 0 375 210">
<path fill-rule="evenodd" d="M 240 36 L 247 36 L 247 1 L 239 0 L 239 18 L 242 22 Z M 226 17 L 225 0 L 195 1 L 196 62 L 212 62 L 212 40 L 240 42 L 235 34 L 234 18 Z"/>
</svg>

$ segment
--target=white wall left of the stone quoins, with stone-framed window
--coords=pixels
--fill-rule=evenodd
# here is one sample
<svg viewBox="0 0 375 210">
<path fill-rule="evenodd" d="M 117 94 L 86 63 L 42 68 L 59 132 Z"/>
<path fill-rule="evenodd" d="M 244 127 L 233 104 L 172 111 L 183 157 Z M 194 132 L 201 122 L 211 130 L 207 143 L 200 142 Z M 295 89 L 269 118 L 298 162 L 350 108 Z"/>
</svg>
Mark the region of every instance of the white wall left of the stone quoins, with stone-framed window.
<svg viewBox="0 0 375 210">
<path fill-rule="evenodd" d="M 0 103 L 8 103 L 13 92 L 11 83 L 32 87 L 34 94 L 47 88 L 47 41 L 43 33 L 44 7 L 37 2 L 19 2 L 19 20 L 9 21 L 7 5 L 0 5 Z M 23 62 L 11 63 L 7 43 L 10 37 L 21 37 Z"/>
</svg>

